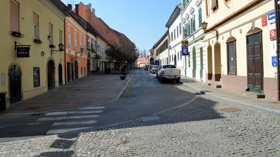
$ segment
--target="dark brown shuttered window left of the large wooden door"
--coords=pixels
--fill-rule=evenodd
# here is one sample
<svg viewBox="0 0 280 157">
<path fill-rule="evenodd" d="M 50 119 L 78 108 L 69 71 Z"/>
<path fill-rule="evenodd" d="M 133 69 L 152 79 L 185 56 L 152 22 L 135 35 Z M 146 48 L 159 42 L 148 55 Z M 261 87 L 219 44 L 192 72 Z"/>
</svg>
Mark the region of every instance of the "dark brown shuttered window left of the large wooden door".
<svg viewBox="0 0 280 157">
<path fill-rule="evenodd" d="M 227 43 L 227 64 L 228 64 L 228 74 L 236 75 L 236 41 Z"/>
</svg>

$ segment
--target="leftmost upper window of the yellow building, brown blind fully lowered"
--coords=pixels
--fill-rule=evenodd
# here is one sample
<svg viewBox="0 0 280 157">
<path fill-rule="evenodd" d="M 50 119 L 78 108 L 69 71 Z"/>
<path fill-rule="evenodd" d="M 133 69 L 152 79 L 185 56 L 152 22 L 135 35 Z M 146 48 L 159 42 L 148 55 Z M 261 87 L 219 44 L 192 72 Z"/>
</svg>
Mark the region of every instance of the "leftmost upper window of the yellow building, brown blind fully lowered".
<svg viewBox="0 0 280 157">
<path fill-rule="evenodd" d="M 18 3 L 10 1 L 10 29 L 19 32 L 18 29 Z"/>
</svg>

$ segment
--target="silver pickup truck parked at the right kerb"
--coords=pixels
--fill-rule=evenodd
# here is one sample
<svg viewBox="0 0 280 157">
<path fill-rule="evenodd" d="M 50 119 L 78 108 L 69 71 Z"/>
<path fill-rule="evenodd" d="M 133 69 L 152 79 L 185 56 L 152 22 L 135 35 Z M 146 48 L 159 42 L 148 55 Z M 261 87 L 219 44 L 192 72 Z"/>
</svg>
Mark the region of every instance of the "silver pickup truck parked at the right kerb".
<svg viewBox="0 0 280 157">
<path fill-rule="evenodd" d="M 165 80 L 176 80 L 176 83 L 180 82 L 181 70 L 176 68 L 176 65 L 164 64 L 157 72 L 157 78 L 160 83 L 163 83 Z"/>
</svg>

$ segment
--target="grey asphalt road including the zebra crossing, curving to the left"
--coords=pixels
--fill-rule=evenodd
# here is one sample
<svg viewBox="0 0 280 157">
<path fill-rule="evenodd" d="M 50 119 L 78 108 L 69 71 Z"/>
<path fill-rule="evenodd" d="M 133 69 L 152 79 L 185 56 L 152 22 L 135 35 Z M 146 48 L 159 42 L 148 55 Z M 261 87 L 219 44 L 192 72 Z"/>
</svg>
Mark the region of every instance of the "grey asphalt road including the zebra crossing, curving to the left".
<svg viewBox="0 0 280 157">
<path fill-rule="evenodd" d="M 120 99 L 112 103 L 41 116 L 1 117 L 0 142 L 115 125 L 182 105 L 195 96 L 189 87 L 176 81 L 162 84 L 154 74 L 138 69 Z"/>
</svg>

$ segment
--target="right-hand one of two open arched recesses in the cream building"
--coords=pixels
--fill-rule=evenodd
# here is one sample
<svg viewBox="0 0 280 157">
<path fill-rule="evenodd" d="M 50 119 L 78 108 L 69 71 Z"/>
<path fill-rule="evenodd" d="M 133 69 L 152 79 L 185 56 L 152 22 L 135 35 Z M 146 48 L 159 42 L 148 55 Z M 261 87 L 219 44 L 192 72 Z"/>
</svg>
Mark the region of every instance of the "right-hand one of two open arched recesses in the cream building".
<svg viewBox="0 0 280 157">
<path fill-rule="evenodd" d="M 214 45 L 214 81 L 220 81 L 221 78 L 221 51 L 220 44 L 216 43 Z"/>
</svg>

